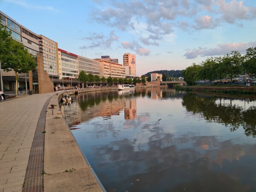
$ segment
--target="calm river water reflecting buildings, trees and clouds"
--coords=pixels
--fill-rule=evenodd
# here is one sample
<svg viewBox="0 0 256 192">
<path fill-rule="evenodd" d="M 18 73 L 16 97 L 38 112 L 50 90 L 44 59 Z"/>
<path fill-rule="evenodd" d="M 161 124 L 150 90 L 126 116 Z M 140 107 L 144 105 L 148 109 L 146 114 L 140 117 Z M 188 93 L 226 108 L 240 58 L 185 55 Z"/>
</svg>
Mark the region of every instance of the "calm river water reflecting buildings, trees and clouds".
<svg viewBox="0 0 256 192">
<path fill-rule="evenodd" d="M 147 88 L 61 107 L 108 192 L 255 192 L 256 97 Z"/>
</svg>

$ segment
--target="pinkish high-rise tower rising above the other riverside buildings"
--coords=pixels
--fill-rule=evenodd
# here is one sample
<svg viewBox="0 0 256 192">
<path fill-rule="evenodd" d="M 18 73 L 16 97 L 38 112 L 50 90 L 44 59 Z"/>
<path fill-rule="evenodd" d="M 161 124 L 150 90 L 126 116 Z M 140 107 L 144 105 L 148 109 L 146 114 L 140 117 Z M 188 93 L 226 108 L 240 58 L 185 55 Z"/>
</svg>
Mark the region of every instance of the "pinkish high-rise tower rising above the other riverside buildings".
<svg viewBox="0 0 256 192">
<path fill-rule="evenodd" d="M 136 76 L 136 56 L 130 53 L 125 53 L 123 56 L 125 75 Z"/>
</svg>

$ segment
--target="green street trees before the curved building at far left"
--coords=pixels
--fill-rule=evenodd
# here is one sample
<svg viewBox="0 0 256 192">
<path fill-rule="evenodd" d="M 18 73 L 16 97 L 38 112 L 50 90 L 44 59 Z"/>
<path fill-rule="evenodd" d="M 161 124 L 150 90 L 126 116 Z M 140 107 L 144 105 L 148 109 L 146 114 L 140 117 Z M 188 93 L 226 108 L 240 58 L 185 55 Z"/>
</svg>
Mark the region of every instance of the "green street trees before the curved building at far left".
<svg viewBox="0 0 256 192">
<path fill-rule="evenodd" d="M 35 58 L 28 50 L 12 39 L 12 32 L 8 31 L 6 26 L 0 24 L 0 73 L 1 70 L 14 71 L 16 75 L 16 95 L 17 81 L 19 73 L 29 73 L 30 70 L 36 68 Z M 1 89 L 3 90 L 3 79 L 0 74 Z"/>
</svg>

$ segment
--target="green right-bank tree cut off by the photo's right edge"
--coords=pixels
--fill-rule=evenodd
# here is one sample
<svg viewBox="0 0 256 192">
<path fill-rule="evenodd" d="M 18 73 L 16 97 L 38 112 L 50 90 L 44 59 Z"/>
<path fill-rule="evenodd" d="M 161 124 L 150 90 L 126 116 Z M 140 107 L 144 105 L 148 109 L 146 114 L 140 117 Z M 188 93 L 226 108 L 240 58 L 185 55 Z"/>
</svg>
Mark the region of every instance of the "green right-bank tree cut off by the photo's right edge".
<svg viewBox="0 0 256 192">
<path fill-rule="evenodd" d="M 246 49 L 244 57 L 245 61 L 242 64 L 244 71 L 251 76 L 256 76 L 256 47 Z"/>
</svg>

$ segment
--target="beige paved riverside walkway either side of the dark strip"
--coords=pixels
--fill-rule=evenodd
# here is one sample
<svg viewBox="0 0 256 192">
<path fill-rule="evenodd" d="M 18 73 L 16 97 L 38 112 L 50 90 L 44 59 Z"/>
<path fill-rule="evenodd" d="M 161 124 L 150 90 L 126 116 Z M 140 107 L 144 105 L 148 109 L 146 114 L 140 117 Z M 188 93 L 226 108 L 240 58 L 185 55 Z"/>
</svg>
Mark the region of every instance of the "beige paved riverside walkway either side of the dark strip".
<svg viewBox="0 0 256 192">
<path fill-rule="evenodd" d="M 0 192 L 22 191 L 25 184 L 24 179 L 29 163 L 30 151 L 33 149 L 32 142 L 35 138 L 38 119 L 40 118 L 40 114 L 45 103 L 47 102 L 47 99 L 53 95 L 55 95 L 55 93 L 34 94 L 16 97 L 16 99 L 7 99 L 6 101 L 0 102 Z M 49 105 L 52 104 L 52 101 L 54 104 L 58 103 L 58 96 L 55 95 L 52 99 L 53 100 L 51 100 Z M 55 114 L 58 114 L 58 116 L 61 117 L 58 107 L 55 107 Z M 50 116 L 50 113 L 48 112 L 47 116 L 49 117 L 46 117 L 45 125 L 48 134 L 46 134 L 46 141 L 44 145 L 44 152 L 46 156 L 44 157 L 44 167 L 48 175 L 44 175 L 44 191 L 73 191 L 70 189 L 76 189 L 76 191 L 102 191 L 92 175 L 93 173 L 91 172 L 92 170 L 90 166 L 84 163 L 85 160 L 81 154 L 81 151 L 79 151 L 79 148 L 76 143 L 74 143 L 74 140 L 72 141 L 72 134 L 70 133 L 69 129 L 67 129 L 64 119 L 60 119 L 62 121 L 61 128 L 63 128 L 63 130 L 61 130 L 59 122 L 50 122 L 55 120 L 52 119 L 52 116 Z M 52 126 L 53 124 L 54 126 Z M 50 130 L 47 130 L 49 128 L 55 128 L 55 130 L 51 130 L 51 132 L 49 132 Z M 59 134 L 58 129 L 60 130 Z M 53 131 L 55 131 L 56 134 L 51 134 Z M 57 154 L 56 151 L 61 152 L 61 154 L 63 153 L 65 156 L 69 154 L 69 151 L 65 149 L 65 146 L 61 146 L 61 143 L 63 143 L 63 141 L 61 141 L 63 137 L 61 133 L 66 135 L 66 142 L 67 137 L 69 138 L 68 140 L 71 140 L 71 142 L 68 143 L 72 143 L 71 147 L 76 149 L 73 151 L 76 151 L 76 157 L 79 157 L 79 162 L 81 162 L 78 163 L 77 158 L 74 158 L 75 163 L 79 164 L 79 167 L 76 171 L 74 169 L 74 172 L 70 170 L 73 167 L 76 167 L 76 164 L 72 164 L 72 161 L 64 161 L 60 158 L 60 156 L 57 155 L 52 158 L 54 154 Z M 56 148 L 56 146 L 60 146 L 64 152 L 60 151 L 60 148 Z M 53 161 L 53 159 L 55 159 L 55 161 Z M 59 160 L 62 161 L 58 162 Z M 56 165 L 58 166 L 56 167 Z M 70 171 L 63 174 L 62 171 L 65 171 L 66 169 Z M 82 181 L 81 178 L 84 178 L 84 175 L 87 175 L 90 178 L 90 180 L 87 180 L 84 188 L 87 190 L 81 190 L 81 186 L 84 186 L 84 181 Z M 51 183 L 52 181 L 53 183 Z M 58 181 L 58 183 L 56 183 L 56 181 Z M 76 185 L 76 187 L 72 188 L 72 182 L 74 181 L 81 183 L 81 186 Z M 67 184 L 68 187 L 64 184 Z M 63 188 L 61 189 L 60 186 L 63 186 Z M 64 188 L 64 186 L 66 188 Z"/>
</svg>

